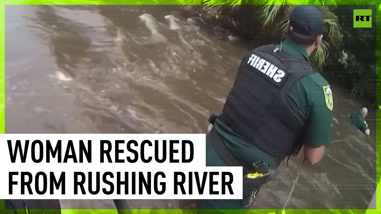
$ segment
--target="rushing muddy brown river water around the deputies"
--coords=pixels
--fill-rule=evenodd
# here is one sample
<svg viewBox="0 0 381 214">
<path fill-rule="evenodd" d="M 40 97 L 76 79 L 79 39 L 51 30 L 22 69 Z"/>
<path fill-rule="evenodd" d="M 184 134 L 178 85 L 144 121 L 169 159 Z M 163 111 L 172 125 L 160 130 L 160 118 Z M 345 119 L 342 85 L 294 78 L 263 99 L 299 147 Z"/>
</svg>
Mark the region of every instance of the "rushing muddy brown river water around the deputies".
<svg viewBox="0 0 381 214">
<path fill-rule="evenodd" d="M 171 16 L 174 10 L 6 6 L 6 133 L 205 133 L 247 50 L 200 19 Z M 308 168 L 291 157 L 253 209 L 367 208 L 376 185 L 375 112 L 367 118 L 370 138 L 350 129 L 349 113 L 362 106 L 332 87 L 338 123 L 325 158 Z M 112 208 L 110 201 L 61 205 Z M 182 208 L 178 200 L 128 202 Z"/>
</svg>

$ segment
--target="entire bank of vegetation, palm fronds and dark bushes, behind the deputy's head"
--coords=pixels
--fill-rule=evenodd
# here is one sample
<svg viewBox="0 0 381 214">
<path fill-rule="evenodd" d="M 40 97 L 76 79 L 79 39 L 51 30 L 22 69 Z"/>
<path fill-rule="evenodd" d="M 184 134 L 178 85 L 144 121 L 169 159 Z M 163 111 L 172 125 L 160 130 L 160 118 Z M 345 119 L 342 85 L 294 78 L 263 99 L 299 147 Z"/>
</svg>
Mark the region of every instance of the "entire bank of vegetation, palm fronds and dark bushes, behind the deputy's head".
<svg viewBox="0 0 381 214">
<path fill-rule="evenodd" d="M 196 11 L 243 40 L 253 41 L 254 46 L 278 43 L 287 30 L 293 4 L 301 4 L 295 0 L 233 0 L 222 5 L 221 2 L 186 0 L 183 8 Z M 323 41 L 312 56 L 315 66 L 347 94 L 376 107 L 376 27 L 353 28 L 356 5 L 335 5 L 335 1 L 322 0 L 307 3 L 322 11 L 326 28 Z M 367 7 L 372 8 L 362 5 L 359 9 Z M 376 19 L 372 21 L 376 26 Z"/>
</svg>

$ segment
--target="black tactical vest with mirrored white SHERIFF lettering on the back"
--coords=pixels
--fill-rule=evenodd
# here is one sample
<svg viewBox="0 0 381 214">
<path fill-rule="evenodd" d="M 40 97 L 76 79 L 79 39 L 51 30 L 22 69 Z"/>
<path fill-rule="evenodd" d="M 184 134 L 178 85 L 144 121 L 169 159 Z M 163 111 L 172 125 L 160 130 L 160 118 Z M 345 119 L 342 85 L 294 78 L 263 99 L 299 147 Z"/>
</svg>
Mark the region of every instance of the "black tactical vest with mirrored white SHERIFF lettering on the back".
<svg viewBox="0 0 381 214">
<path fill-rule="evenodd" d="M 277 158 L 292 155 L 300 149 L 305 121 L 291 110 L 287 93 L 296 80 L 314 72 L 309 62 L 291 59 L 275 45 L 256 48 L 241 62 L 223 120 L 264 152 Z"/>
</svg>

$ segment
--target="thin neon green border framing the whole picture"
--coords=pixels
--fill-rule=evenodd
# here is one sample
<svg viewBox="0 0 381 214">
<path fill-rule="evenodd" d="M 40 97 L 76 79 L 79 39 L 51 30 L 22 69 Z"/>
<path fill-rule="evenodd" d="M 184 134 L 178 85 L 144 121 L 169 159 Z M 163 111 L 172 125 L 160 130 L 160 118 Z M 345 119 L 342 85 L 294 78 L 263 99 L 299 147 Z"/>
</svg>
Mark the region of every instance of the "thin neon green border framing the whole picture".
<svg viewBox="0 0 381 214">
<path fill-rule="evenodd" d="M 3 38 L 0 41 L 0 133 L 5 133 L 5 5 L 183 5 L 185 0 L 0 0 L 0 37 Z M 263 0 L 261 4 L 277 4 L 279 1 L 266 1 Z M 378 0 L 327 0 L 324 1 L 326 5 L 336 4 L 336 5 L 376 5 L 376 32 L 377 32 L 377 101 L 381 103 L 381 3 Z M 201 2 L 200 2 L 201 3 Z M 303 5 L 303 4 L 316 4 L 319 1 L 308 1 L 308 0 L 288 0 L 288 4 L 293 5 Z M 221 5 L 227 4 L 226 1 L 221 0 Z M 256 1 L 258 4 L 258 1 Z M 381 127 L 381 106 L 379 106 L 376 112 L 376 127 Z M 376 128 L 376 150 L 380 150 L 381 139 L 381 128 Z M 380 175 L 380 155 L 376 153 L 377 161 L 377 177 L 376 181 L 379 181 Z M 1 166 L 0 166 L 1 168 Z M 381 194 L 381 182 L 377 186 L 378 195 Z M 377 204 L 381 203 L 381 197 L 377 199 Z M 377 206 L 378 209 L 368 210 L 366 214 L 380 214 L 381 205 Z M 8 210 L 9 211 L 9 210 Z M 6 214 L 8 211 L 4 210 L 4 200 L 0 200 L 0 214 Z M 50 210 L 41 210 L 40 213 L 48 214 Z M 130 214 L 186 214 L 194 213 L 196 210 L 181 210 L 181 209 L 131 209 L 126 210 L 126 213 Z M 263 214 L 321 214 L 321 213 L 332 213 L 332 214 L 364 214 L 366 210 L 350 210 L 350 209 L 287 209 L 286 211 L 276 211 L 276 210 L 266 210 L 266 209 L 252 209 L 248 210 L 248 213 L 263 213 Z M 115 214 L 116 210 L 112 209 L 102 209 L 102 210 L 92 210 L 92 209 L 66 209 L 61 210 L 62 214 Z M 206 213 L 215 213 L 215 211 L 204 210 Z M 225 210 L 225 213 L 243 213 L 243 210 Z M 14 213 L 14 212 L 13 212 Z M 22 213 L 22 212 L 21 212 Z"/>
</svg>

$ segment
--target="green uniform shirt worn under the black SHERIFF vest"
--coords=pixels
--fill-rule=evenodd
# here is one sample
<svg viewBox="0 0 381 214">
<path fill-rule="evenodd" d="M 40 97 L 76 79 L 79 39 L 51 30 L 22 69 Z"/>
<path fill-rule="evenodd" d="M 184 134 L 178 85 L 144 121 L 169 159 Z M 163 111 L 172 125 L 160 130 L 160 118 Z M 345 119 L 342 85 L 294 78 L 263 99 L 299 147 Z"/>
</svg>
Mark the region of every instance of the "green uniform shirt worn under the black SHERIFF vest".
<svg viewBox="0 0 381 214">
<path fill-rule="evenodd" d="M 289 39 L 285 39 L 282 46 L 278 45 L 278 47 L 294 59 L 309 61 L 306 49 Z M 307 147 L 317 148 L 330 142 L 333 99 L 326 99 L 327 86 L 329 86 L 327 81 L 319 73 L 313 73 L 295 81 L 288 93 L 291 109 L 306 121 L 299 140 L 303 141 Z M 265 160 L 272 169 L 276 168 L 274 157 L 259 150 L 253 144 L 245 142 L 221 118 L 216 120 L 214 128 L 232 155 L 241 160 L 246 167 L 250 167 L 254 162 Z M 207 166 L 226 166 L 216 155 L 207 136 Z"/>
</svg>

